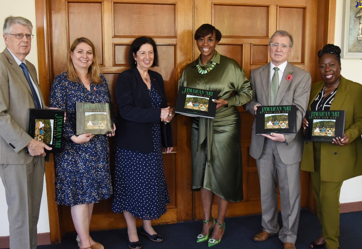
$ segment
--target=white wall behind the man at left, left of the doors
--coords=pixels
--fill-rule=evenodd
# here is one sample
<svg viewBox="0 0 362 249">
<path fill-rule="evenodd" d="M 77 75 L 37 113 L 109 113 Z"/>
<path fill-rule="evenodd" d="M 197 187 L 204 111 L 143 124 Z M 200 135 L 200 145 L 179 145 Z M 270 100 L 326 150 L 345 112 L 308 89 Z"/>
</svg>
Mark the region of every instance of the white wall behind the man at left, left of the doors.
<svg viewBox="0 0 362 249">
<path fill-rule="evenodd" d="M 0 26 L 1 34 L 3 34 L 4 19 L 7 16 L 22 16 L 28 18 L 33 24 L 34 39 L 31 40 L 31 51 L 26 59 L 34 64 L 38 70 L 38 51 L 35 27 L 35 0 L 1 0 L 0 8 Z M 4 50 L 4 40 L 0 39 L 0 52 Z M 9 236 L 8 207 L 5 200 L 5 191 L 2 182 L 0 183 L 0 236 Z M 40 207 L 40 216 L 38 222 L 38 233 L 49 232 L 49 217 L 46 197 L 46 186 L 44 179 L 43 197 Z"/>
</svg>

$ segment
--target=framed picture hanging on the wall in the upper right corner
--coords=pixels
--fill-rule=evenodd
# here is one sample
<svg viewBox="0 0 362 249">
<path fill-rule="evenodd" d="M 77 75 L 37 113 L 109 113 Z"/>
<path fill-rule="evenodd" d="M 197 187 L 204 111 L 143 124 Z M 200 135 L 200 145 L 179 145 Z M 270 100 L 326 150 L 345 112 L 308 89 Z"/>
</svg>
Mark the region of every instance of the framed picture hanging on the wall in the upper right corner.
<svg viewBox="0 0 362 249">
<path fill-rule="evenodd" d="M 362 59 L 362 1 L 344 0 L 342 24 L 344 59 Z"/>
</svg>

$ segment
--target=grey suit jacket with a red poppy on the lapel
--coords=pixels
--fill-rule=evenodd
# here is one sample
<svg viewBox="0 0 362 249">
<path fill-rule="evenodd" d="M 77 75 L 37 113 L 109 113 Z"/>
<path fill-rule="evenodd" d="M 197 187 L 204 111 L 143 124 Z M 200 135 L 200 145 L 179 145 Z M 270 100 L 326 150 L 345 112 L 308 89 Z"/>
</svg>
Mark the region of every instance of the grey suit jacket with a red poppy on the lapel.
<svg viewBox="0 0 362 249">
<path fill-rule="evenodd" d="M 287 75 L 291 74 L 293 78 L 287 80 Z M 244 108 L 254 115 L 254 105 L 269 105 L 270 103 L 270 63 L 253 69 L 250 76 L 250 85 L 253 89 L 252 100 L 244 105 Z M 297 134 L 285 135 L 286 143 L 277 142 L 279 156 L 284 164 L 290 165 L 298 163 L 302 160 L 303 152 L 303 131 L 302 119 L 306 114 L 309 95 L 311 90 L 311 75 L 310 73 L 296 67 L 289 62 L 283 73 L 283 77 L 279 86 L 275 105 L 296 105 L 296 122 Z M 252 140 L 250 146 L 250 155 L 259 159 L 264 146 L 262 135 L 255 135 L 255 120 L 253 123 Z"/>
</svg>

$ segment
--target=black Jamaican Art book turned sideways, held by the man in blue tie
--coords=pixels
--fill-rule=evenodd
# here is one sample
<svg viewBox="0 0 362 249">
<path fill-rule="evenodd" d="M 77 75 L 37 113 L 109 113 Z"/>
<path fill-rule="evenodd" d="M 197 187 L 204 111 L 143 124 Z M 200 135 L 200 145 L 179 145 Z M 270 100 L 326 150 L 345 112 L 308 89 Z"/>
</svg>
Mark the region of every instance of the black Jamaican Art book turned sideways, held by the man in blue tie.
<svg viewBox="0 0 362 249">
<path fill-rule="evenodd" d="M 51 147 L 47 153 L 62 152 L 65 110 L 29 109 L 28 134 Z M 28 150 L 26 150 L 28 152 Z"/>
</svg>

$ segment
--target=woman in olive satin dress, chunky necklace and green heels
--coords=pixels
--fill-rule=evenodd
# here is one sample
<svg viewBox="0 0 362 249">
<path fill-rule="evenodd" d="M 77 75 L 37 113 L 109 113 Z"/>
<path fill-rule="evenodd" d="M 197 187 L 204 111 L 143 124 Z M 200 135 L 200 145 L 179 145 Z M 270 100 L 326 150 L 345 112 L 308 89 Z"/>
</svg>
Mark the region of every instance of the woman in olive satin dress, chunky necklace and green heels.
<svg viewBox="0 0 362 249">
<path fill-rule="evenodd" d="M 203 24 L 194 38 L 201 55 L 185 67 L 178 84 L 219 92 L 214 100 L 215 119 L 193 118 L 191 125 L 191 188 L 201 190 L 204 218 L 197 242 L 208 241 L 214 246 L 223 236 L 229 202 L 243 200 L 241 123 L 236 105 L 251 100 L 252 90 L 239 64 L 215 50 L 221 39 L 219 30 Z M 211 217 L 214 194 L 218 200 L 216 221 Z"/>
</svg>

